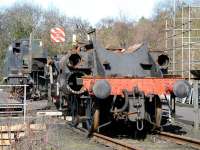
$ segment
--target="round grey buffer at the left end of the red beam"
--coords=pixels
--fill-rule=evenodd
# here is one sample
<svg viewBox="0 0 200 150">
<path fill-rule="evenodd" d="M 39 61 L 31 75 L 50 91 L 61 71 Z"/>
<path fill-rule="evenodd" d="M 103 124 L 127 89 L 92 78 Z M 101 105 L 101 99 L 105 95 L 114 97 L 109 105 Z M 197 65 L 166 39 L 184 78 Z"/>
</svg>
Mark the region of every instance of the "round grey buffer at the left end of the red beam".
<svg viewBox="0 0 200 150">
<path fill-rule="evenodd" d="M 94 95 L 99 99 L 105 99 L 111 94 L 111 86 L 106 80 L 98 80 L 92 87 Z"/>
</svg>

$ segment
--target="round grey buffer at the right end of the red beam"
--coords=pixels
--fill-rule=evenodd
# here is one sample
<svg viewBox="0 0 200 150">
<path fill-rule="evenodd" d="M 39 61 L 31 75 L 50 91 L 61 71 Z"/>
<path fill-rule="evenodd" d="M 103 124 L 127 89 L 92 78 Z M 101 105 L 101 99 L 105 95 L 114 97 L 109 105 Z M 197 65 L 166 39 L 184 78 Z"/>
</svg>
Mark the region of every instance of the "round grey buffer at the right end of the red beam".
<svg viewBox="0 0 200 150">
<path fill-rule="evenodd" d="M 189 96 L 190 91 L 191 91 L 191 86 L 185 80 L 176 81 L 176 83 L 173 86 L 173 92 L 175 96 L 179 98 L 185 98 Z"/>
</svg>

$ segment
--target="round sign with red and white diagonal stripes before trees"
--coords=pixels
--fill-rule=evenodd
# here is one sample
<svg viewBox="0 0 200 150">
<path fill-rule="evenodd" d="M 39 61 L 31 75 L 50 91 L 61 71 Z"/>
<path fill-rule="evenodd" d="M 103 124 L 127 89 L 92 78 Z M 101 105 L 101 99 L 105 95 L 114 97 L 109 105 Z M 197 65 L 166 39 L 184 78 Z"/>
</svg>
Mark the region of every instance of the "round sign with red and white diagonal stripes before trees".
<svg viewBox="0 0 200 150">
<path fill-rule="evenodd" d="M 51 34 L 51 41 L 53 43 L 65 42 L 64 28 L 61 28 L 61 27 L 52 28 L 50 31 L 50 34 Z"/>
</svg>

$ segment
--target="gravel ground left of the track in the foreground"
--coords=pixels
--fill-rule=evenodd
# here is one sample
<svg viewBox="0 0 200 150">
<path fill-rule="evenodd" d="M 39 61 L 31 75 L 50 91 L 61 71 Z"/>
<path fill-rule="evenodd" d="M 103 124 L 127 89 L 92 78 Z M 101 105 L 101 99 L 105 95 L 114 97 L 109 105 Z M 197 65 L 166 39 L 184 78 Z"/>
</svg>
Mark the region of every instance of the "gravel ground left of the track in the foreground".
<svg viewBox="0 0 200 150">
<path fill-rule="evenodd" d="M 46 118 L 47 130 L 31 133 L 14 144 L 16 150 L 106 150 L 109 148 L 88 139 L 69 124 L 55 118 Z M 41 120 L 36 120 L 36 123 Z"/>
</svg>

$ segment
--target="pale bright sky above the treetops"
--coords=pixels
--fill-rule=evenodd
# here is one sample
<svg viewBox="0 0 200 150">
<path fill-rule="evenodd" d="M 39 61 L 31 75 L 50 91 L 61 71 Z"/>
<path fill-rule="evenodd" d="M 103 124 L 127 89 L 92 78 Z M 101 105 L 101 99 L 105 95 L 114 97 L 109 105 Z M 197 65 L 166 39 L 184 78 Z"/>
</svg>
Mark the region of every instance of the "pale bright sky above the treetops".
<svg viewBox="0 0 200 150">
<path fill-rule="evenodd" d="M 29 0 L 45 9 L 58 8 L 69 17 L 81 17 L 96 24 L 105 17 L 117 17 L 119 14 L 138 20 L 150 18 L 155 6 L 164 0 Z M 6 8 L 16 2 L 28 0 L 0 0 L 0 8 Z M 171 0 L 168 0 L 171 2 Z"/>
</svg>

